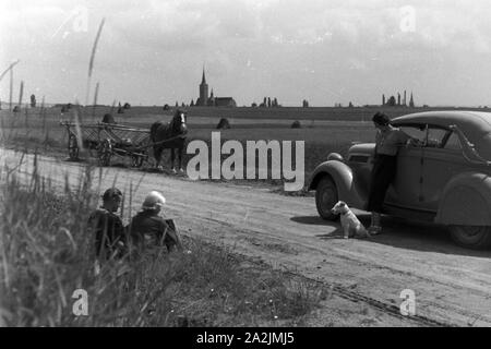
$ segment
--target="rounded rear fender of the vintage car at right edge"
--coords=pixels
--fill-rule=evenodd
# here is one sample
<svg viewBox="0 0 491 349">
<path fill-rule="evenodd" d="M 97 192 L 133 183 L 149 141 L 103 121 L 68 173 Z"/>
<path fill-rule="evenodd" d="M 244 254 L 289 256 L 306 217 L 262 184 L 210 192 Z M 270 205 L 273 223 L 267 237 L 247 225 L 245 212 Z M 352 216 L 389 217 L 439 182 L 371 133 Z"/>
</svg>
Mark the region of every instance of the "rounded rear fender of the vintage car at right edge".
<svg viewBox="0 0 491 349">
<path fill-rule="evenodd" d="M 464 172 L 448 181 L 440 200 L 435 222 L 491 226 L 491 177 Z"/>
</svg>

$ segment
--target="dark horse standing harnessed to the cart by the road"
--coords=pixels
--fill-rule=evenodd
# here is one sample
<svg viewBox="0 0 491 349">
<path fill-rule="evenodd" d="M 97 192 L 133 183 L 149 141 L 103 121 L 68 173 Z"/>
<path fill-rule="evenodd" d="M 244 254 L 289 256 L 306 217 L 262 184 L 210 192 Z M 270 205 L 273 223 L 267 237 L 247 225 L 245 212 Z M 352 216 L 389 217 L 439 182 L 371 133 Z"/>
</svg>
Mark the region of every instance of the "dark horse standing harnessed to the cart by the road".
<svg viewBox="0 0 491 349">
<path fill-rule="evenodd" d="M 184 148 L 185 135 L 188 127 L 185 125 L 185 113 L 180 109 L 176 110 L 172 120 L 169 123 L 160 121 L 155 122 L 151 127 L 151 141 L 154 143 L 155 167 L 160 168 L 160 157 L 164 149 L 170 149 L 172 172 L 176 172 L 173 161 L 176 159 L 175 149 L 179 155 L 179 170 L 182 169 L 182 151 Z"/>
</svg>

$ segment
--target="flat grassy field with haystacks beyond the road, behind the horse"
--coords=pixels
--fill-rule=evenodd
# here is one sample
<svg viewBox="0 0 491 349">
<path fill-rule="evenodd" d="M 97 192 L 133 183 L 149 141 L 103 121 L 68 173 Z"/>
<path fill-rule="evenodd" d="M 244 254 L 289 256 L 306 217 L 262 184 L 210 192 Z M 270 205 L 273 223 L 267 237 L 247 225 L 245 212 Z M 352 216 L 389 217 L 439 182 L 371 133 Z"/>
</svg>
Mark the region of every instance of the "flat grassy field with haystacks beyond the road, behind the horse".
<svg viewBox="0 0 491 349">
<path fill-rule="evenodd" d="M 430 108 L 182 108 L 188 111 L 188 141 L 203 140 L 209 143 L 213 131 L 220 118 L 227 118 L 231 129 L 221 130 L 223 141 L 277 140 L 304 141 L 306 179 L 313 169 L 323 163 L 327 155 L 337 152 L 346 155 L 352 142 L 373 142 L 374 129 L 371 116 L 382 110 L 394 118 L 405 113 L 433 110 Z M 148 129 L 157 121 L 169 121 L 173 108 L 163 110 L 160 107 L 132 107 L 124 113 L 115 113 L 110 107 L 87 107 L 80 110 L 82 123 L 101 120 L 104 113 L 113 113 L 118 123 Z M 0 111 L 1 139 L 3 144 L 15 145 L 27 151 L 35 148 L 45 153 L 68 156 L 67 130 L 60 121 L 73 121 L 74 109 L 61 113 L 60 108 L 23 109 L 11 113 Z M 291 123 L 299 120 L 300 129 L 291 129 Z M 152 158 L 152 152 L 149 152 Z M 184 155 L 187 161 L 193 155 Z M 163 165 L 170 164 L 169 152 L 164 153 Z M 112 164 L 121 159 L 113 160 Z M 123 160 L 124 163 L 124 160 Z M 145 165 L 152 167 L 153 161 Z"/>
</svg>

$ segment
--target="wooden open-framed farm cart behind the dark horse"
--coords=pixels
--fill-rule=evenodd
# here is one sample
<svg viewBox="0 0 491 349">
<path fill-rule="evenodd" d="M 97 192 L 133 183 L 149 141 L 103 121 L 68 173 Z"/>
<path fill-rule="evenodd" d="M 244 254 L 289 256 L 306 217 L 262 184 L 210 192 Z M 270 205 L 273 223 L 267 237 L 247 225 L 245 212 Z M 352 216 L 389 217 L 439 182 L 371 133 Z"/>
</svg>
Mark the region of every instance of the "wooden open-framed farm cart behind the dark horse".
<svg viewBox="0 0 491 349">
<path fill-rule="evenodd" d="M 109 166 L 112 156 L 130 157 L 133 167 L 148 158 L 149 130 L 110 123 L 76 124 L 61 122 L 68 132 L 70 159 L 77 159 L 80 147 L 97 152 L 100 166 Z"/>
</svg>

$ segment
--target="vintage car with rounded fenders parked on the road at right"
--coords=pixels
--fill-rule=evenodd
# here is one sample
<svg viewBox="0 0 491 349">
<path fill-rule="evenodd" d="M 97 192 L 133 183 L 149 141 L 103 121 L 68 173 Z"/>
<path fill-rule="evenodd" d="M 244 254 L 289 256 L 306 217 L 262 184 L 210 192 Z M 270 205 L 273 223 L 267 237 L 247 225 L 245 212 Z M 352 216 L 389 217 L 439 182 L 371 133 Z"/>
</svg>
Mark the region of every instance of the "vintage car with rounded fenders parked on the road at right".
<svg viewBox="0 0 491 349">
<path fill-rule="evenodd" d="M 420 142 L 399 148 L 383 214 L 447 226 L 466 248 L 491 245 L 491 113 L 429 111 L 392 123 Z M 373 153 L 374 144 L 355 144 L 346 159 L 333 153 L 316 167 L 308 185 L 322 218 L 337 218 L 338 200 L 364 209 Z"/>
</svg>

